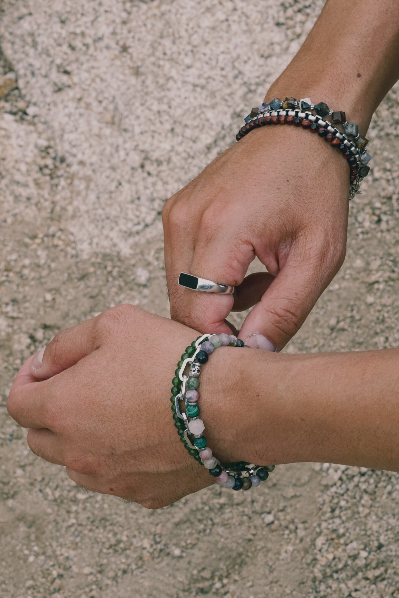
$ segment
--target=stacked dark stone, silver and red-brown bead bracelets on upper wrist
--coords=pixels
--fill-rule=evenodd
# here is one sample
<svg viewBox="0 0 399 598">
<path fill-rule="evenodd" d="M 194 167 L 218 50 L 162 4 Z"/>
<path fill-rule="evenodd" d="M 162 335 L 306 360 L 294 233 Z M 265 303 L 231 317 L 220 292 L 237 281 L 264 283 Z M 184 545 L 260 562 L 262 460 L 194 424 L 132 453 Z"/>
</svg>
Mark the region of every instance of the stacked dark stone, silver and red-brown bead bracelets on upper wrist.
<svg viewBox="0 0 399 598">
<path fill-rule="evenodd" d="M 337 126 L 326 120 L 327 116 L 331 117 L 331 122 Z M 301 100 L 286 97 L 284 102 L 275 97 L 270 104 L 263 102 L 260 108 L 252 108 L 251 114 L 245 118 L 245 125 L 236 135 L 237 141 L 252 129 L 267 124 L 293 124 L 314 133 L 317 131 L 319 136 L 337 147 L 348 160 L 349 200 L 353 199 L 356 193 L 361 193 L 360 182 L 370 172 L 370 166 L 367 164 L 371 155 L 366 151 L 368 139 L 359 135 L 357 124 L 348 123 L 345 112 L 334 112 L 324 102 L 315 105 L 309 97 Z M 343 130 L 340 130 L 339 126 Z"/>
</svg>

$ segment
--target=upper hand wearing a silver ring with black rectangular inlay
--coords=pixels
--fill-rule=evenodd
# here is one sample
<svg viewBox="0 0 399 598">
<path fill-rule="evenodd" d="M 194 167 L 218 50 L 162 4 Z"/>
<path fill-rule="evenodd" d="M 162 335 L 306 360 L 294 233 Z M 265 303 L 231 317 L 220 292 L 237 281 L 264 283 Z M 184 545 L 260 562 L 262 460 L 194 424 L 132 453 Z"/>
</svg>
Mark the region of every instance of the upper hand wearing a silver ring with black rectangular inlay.
<svg viewBox="0 0 399 598">
<path fill-rule="evenodd" d="M 346 160 L 309 131 L 267 126 L 227 149 L 163 210 L 172 318 L 230 332 L 229 312 L 255 305 L 240 338 L 280 350 L 343 263 L 348 189 Z M 269 273 L 245 277 L 255 255 Z M 184 289 L 181 271 L 236 291 Z"/>
</svg>

